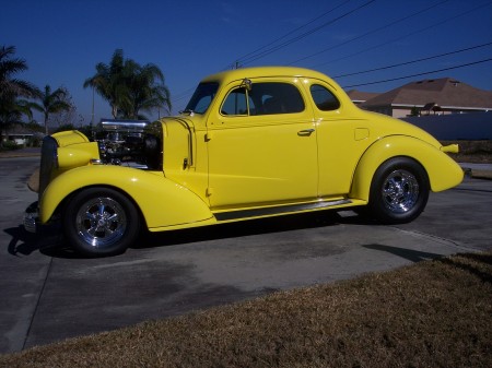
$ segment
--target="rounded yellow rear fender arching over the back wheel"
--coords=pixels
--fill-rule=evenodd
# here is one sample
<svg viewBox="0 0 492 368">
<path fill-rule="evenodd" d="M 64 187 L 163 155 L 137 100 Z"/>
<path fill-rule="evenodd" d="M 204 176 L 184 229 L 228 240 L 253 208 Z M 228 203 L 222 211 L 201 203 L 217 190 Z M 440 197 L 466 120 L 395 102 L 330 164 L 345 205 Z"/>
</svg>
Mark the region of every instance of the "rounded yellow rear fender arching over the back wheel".
<svg viewBox="0 0 492 368">
<path fill-rule="evenodd" d="M 391 135 L 376 141 L 365 151 L 355 168 L 350 198 L 368 201 L 374 173 L 385 161 L 396 156 L 419 162 L 427 173 L 434 192 L 453 188 L 464 178 L 461 167 L 437 147 L 413 136 Z"/>
</svg>

